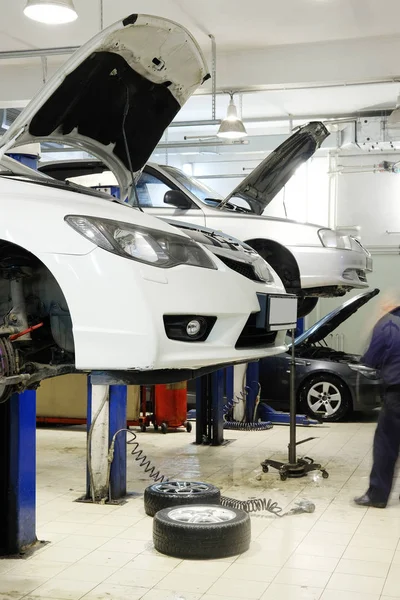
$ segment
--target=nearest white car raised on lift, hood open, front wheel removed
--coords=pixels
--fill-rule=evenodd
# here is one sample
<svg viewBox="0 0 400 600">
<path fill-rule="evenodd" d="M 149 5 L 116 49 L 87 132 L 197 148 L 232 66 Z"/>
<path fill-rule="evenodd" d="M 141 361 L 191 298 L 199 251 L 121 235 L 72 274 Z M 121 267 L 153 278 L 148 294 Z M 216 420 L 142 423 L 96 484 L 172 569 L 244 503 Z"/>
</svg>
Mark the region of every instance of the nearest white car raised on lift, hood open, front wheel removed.
<svg viewBox="0 0 400 600">
<path fill-rule="evenodd" d="M 38 141 L 78 146 L 130 199 L 206 77 L 184 28 L 131 15 L 76 52 L 0 140 L 0 400 L 75 370 L 166 383 L 285 350 L 296 299 L 251 249 L 238 248 L 257 272 L 249 278 L 129 202 L 4 156 Z"/>
</svg>

